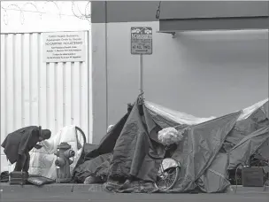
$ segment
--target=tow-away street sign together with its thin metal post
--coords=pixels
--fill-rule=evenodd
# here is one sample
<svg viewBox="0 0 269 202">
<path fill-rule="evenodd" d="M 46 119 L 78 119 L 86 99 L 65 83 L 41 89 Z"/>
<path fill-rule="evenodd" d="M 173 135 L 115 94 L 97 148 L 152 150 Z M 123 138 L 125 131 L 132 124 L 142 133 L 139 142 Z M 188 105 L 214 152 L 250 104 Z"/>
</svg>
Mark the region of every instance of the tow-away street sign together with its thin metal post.
<svg viewBox="0 0 269 202">
<path fill-rule="evenodd" d="M 152 54 L 152 28 L 131 27 L 131 54 L 139 55 L 139 85 L 143 92 L 143 55 Z"/>
</svg>

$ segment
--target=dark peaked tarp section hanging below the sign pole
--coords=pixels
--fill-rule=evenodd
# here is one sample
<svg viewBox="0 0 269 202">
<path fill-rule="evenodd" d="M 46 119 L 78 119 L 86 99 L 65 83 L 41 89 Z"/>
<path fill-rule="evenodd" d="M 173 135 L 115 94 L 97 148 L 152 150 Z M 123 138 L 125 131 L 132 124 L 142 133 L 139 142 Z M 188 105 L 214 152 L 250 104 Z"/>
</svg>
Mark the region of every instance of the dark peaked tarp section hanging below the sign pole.
<svg viewBox="0 0 269 202">
<path fill-rule="evenodd" d="M 127 113 L 104 136 L 95 151 L 88 158 L 113 151 L 110 178 L 121 180 L 134 177 L 154 183 L 158 175 L 161 159 L 151 159 L 148 155 L 164 156 L 164 146 L 158 143 L 157 133 L 161 129 L 145 106 L 135 102 L 132 112 Z"/>
</svg>

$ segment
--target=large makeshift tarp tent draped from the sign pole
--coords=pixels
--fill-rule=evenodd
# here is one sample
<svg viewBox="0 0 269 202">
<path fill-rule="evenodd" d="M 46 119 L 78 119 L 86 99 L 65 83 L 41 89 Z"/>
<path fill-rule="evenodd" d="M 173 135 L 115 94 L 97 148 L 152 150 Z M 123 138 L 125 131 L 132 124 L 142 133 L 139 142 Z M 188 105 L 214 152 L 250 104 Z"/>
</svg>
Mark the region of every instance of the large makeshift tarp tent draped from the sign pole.
<svg viewBox="0 0 269 202">
<path fill-rule="evenodd" d="M 137 98 L 100 144 L 85 151 L 73 170 L 76 183 L 103 183 L 113 192 L 156 192 L 167 145 L 181 165 L 165 192 L 223 192 L 229 172 L 250 157 L 269 159 L 268 99 L 219 118 L 196 118 Z M 169 136 L 169 138 L 166 137 Z M 152 158 L 158 157 L 158 158 Z"/>
</svg>

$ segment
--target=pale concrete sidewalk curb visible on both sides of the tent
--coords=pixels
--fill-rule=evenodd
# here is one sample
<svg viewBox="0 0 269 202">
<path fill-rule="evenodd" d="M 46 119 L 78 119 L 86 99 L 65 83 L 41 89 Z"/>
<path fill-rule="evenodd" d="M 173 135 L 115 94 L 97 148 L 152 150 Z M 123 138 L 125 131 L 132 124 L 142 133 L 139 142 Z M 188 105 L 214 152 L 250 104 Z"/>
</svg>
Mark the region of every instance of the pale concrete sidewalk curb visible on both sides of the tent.
<svg viewBox="0 0 269 202">
<path fill-rule="evenodd" d="M 83 193 L 83 192 L 104 192 L 103 184 L 72 184 L 72 183 L 53 183 L 37 187 L 35 185 L 10 185 L 9 183 L 1 183 L 0 190 L 4 193 L 32 191 L 38 192 L 61 192 L 61 193 Z M 242 187 L 242 185 L 232 185 L 227 189 L 227 193 L 265 193 L 269 194 L 269 186 L 266 187 Z"/>
</svg>

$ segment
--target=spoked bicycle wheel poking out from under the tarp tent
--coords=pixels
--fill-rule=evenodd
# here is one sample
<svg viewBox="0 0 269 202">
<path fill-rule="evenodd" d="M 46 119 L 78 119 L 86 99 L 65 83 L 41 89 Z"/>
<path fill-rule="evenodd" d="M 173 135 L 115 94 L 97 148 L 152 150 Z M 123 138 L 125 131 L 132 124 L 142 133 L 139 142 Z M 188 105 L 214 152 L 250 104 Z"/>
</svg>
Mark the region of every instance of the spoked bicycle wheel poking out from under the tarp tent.
<svg viewBox="0 0 269 202">
<path fill-rule="evenodd" d="M 165 170 L 161 170 L 159 172 L 156 186 L 159 190 L 170 190 L 173 188 L 173 185 L 178 181 L 179 175 L 179 166 L 165 168 Z"/>
</svg>

